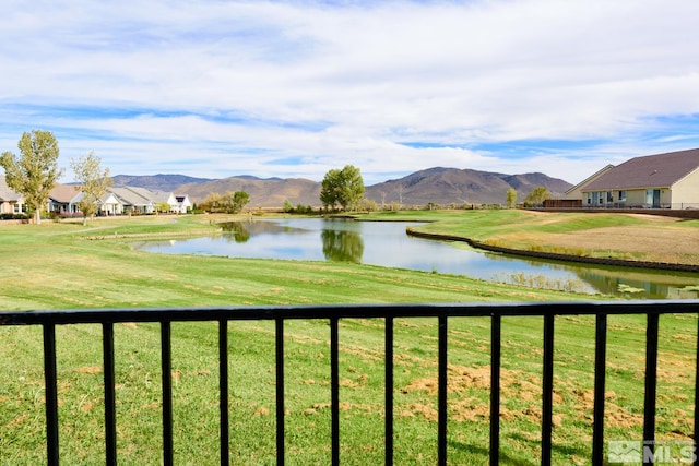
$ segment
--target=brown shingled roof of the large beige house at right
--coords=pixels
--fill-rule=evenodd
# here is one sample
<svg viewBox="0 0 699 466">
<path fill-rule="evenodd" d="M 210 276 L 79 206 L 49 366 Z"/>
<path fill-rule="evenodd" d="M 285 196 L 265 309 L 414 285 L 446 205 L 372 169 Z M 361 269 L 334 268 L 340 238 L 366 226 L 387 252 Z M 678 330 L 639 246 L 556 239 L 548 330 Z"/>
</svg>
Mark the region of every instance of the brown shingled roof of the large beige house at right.
<svg viewBox="0 0 699 466">
<path fill-rule="evenodd" d="M 583 191 L 672 187 L 699 168 L 699 148 L 635 157 L 603 174 Z"/>
</svg>

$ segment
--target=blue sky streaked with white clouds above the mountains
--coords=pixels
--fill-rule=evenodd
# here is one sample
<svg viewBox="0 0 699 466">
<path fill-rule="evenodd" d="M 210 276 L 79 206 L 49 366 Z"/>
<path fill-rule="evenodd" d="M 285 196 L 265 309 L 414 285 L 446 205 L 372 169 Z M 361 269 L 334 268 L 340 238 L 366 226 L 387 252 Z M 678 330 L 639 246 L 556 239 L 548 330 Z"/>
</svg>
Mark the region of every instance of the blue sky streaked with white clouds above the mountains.
<svg viewBox="0 0 699 466">
<path fill-rule="evenodd" d="M 112 175 L 374 184 L 435 166 L 543 171 L 699 147 L 695 0 L 0 5 L 0 151 L 22 132 Z"/>
</svg>

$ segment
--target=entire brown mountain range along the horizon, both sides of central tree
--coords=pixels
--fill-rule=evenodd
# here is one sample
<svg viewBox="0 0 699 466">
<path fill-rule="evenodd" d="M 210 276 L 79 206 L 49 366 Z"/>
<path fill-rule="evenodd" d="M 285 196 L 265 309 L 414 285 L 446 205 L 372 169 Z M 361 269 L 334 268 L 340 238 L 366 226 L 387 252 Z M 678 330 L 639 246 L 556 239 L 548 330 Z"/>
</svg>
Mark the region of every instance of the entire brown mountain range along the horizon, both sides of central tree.
<svg viewBox="0 0 699 466">
<path fill-rule="evenodd" d="M 304 178 L 235 176 L 208 179 L 183 175 L 117 175 L 112 179 L 115 187 L 131 186 L 188 194 L 194 203 L 203 201 L 212 192 L 245 191 L 250 194 L 250 207 L 281 207 L 286 200 L 292 205 L 320 205 L 321 183 Z M 541 172 L 505 175 L 435 167 L 368 186 L 365 196 L 379 205 L 392 202 L 404 206 L 426 205 L 430 202 L 440 205 L 505 204 L 508 189 L 513 188 L 518 193 L 518 201 L 522 201 L 536 187 L 545 187 L 553 198 L 561 198 L 572 184 Z"/>
</svg>

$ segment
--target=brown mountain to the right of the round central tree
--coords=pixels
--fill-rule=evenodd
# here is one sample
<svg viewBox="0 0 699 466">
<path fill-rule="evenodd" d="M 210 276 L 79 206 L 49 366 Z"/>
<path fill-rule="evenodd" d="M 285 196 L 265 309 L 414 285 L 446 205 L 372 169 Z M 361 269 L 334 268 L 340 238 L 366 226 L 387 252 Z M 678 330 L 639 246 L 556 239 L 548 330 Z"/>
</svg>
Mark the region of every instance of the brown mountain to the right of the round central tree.
<svg viewBox="0 0 699 466">
<path fill-rule="evenodd" d="M 503 175 L 489 171 L 435 167 L 407 177 L 367 188 L 366 196 L 379 204 L 402 205 L 505 204 L 506 193 L 514 188 L 518 201 L 536 187 L 546 187 L 553 198 L 560 198 L 572 187 L 567 181 L 544 174 Z"/>
</svg>

